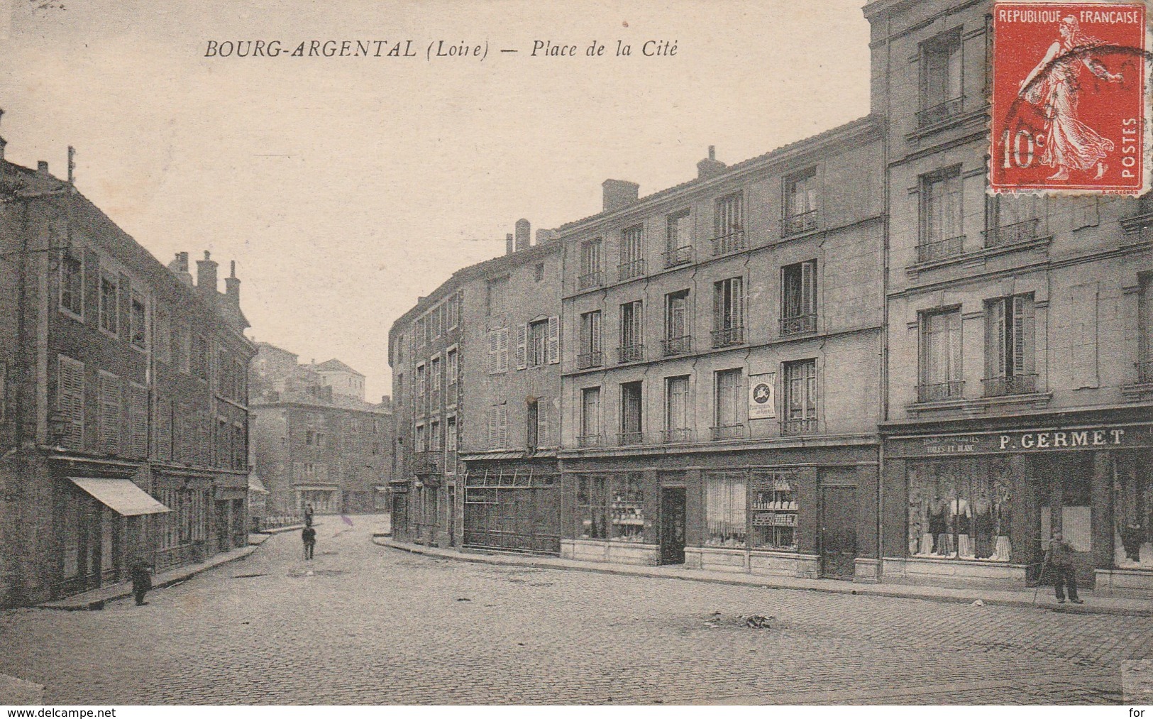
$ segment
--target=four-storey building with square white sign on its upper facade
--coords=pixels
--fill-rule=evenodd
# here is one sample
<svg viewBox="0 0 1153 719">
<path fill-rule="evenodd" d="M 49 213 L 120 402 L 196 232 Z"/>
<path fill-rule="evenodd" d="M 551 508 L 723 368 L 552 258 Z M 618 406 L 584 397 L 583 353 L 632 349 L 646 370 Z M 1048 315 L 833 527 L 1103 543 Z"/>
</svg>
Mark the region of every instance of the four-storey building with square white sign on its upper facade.
<svg viewBox="0 0 1153 719">
<path fill-rule="evenodd" d="M 558 229 L 563 556 L 875 578 L 881 167 L 867 117 Z"/>
</svg>

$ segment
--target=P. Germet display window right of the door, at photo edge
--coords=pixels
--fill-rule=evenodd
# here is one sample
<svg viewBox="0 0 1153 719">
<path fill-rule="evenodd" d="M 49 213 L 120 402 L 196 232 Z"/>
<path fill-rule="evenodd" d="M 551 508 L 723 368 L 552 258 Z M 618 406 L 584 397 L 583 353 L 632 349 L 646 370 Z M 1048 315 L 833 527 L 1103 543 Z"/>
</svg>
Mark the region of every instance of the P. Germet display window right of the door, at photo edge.
<svg viewBox="0 0 1153 719">
<path fill-rule="evenodd" d="M 1114 562 L 1118 569 L 1153 569 L 1153 470 L 1147 457 L 1117 459 L 1113 485 Z"/>
</svg>

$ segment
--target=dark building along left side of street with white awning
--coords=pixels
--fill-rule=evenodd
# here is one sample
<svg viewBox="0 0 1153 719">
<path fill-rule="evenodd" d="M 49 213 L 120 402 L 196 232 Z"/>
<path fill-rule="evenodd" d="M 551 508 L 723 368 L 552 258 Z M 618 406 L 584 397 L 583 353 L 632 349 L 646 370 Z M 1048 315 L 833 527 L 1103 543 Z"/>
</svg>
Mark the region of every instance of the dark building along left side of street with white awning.
<svg viewBox="0 0 1153 719">
<path fill-rule="evenodd" d="M 240 280 L 165 268 L 70 182 L 0 140 L 5 604 L 248 542 Z"/>
</svg>

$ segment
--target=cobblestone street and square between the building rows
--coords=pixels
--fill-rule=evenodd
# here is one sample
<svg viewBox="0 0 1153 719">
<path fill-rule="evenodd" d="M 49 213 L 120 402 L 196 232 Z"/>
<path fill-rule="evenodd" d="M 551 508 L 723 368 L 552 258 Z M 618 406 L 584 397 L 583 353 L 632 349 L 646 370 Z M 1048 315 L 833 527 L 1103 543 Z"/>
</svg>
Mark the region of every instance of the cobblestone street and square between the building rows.
<svg viewBox="0 0 1153 719">
<path fill-rule="evenodd" d="M 1120 703 L 1153 656 L 1148 617 L 461 563 L 353 520 L 145 607 L 9 613 L 0 672 L 54 704 Z"/>
</svg>

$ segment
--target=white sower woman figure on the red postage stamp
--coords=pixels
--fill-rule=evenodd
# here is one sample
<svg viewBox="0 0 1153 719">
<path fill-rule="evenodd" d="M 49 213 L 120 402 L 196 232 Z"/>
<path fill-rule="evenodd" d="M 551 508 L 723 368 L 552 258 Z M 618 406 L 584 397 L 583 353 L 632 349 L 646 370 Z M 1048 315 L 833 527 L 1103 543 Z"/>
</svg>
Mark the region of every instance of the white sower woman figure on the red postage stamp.
<svg viewBox="0 0 1153 719">
<path fill-rule="evenodd" d="M 1049 179 L 1068 180 L 1070 170 L 1092 170 L 1097 166 L 1093 179 L 1100 180 L 1109 168 L 1102 160 L 1113 152 L 1114 144 L 1077 117 L 1080 68 L 1085 66 L 1093 75 L 1109 82 L 1123 78 L 1091 55 L 1092 48 L 1101 40 L 1082 32 L 1076 17 L 1069 15 L 1063 18 L 1058 32 L 1061 37 L 1020 82 L 1018 95 L 1045 108 L 1046 142 L 1041 164 L 1057 168 Z"/>
</svg>

